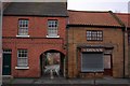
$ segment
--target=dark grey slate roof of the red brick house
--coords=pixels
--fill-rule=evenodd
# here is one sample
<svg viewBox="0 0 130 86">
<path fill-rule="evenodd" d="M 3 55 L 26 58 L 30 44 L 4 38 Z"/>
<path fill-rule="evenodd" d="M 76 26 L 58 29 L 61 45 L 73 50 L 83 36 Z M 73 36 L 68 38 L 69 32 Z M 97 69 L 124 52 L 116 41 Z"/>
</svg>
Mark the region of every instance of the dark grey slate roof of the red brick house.
<svg viewBox="0 0 130 86">
<path fill-rule="evenodd" d="M 66 2 L 12 2 L 4 15 L 67 16 Z"/>
</svg>

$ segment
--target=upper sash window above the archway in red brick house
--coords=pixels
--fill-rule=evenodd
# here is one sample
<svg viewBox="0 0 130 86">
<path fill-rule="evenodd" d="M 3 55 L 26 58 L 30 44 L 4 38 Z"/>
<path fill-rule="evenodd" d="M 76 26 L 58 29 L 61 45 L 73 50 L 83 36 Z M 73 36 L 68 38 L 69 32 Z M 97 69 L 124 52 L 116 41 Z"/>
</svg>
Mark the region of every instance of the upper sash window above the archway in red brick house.
<svg viewBox="0 0 130 86">
<path fill-rule="evenodd" d="M 57 20 L 48 20 L 48 37 L 57 37 Z"/>
</svg>

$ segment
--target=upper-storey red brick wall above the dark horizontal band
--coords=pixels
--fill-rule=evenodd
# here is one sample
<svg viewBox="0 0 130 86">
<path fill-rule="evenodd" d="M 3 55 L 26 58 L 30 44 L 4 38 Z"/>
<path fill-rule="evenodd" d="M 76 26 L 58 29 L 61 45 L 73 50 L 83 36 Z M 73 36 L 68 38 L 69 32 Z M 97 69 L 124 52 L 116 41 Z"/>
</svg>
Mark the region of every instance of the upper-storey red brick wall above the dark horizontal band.
<svg viewBox="0 0 130 86">
<path fill-rule="evenodd" d="M 48 31 L 48 19 L 58 20 L 58 35 L 65 39 L 66 18 L 65 17 L 24 17 L 4 16 L 3 37 L 16 37 L 18 30 L 18 18 L 29 19 L 28 34 L 30 37 L 46 38 Z"/>
</svg>

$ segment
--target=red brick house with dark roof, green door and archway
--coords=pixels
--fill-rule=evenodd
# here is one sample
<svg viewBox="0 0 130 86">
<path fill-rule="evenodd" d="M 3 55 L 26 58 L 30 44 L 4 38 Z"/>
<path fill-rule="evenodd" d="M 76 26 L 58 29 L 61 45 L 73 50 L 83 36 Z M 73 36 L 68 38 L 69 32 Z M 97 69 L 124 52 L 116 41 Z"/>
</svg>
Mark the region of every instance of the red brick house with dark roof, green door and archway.
<svg viewBox="0 0 130 86">
<path fill-rule="evenodd" d="M 66 18 L 66 2 L 10 3 L 3 12 L 3 75 L 46 76 L 52 64 L 63 75 Z"/>
</svg>

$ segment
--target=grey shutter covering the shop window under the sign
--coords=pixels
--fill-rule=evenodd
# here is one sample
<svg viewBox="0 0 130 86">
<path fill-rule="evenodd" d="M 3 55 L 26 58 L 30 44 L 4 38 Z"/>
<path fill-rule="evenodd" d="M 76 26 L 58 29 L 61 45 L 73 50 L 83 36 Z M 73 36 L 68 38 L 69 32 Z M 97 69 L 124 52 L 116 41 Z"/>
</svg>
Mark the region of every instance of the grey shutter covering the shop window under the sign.
<svg viewBox="0 0 130 86">
<path fill-rule="evenodd" d="M 103 53 L 82 53 L 81 72 L 101 72 L 103 67 Z"/>
</svg>

